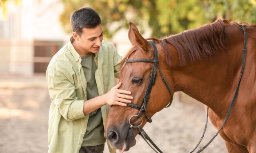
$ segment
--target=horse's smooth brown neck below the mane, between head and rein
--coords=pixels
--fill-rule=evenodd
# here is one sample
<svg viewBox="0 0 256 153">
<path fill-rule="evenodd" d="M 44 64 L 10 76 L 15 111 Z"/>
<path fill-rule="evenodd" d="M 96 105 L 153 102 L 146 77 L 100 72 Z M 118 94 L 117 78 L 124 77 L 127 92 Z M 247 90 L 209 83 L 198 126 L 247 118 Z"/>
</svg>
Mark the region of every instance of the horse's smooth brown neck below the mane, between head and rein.
<svg viewBox="0 0 256 153">
<path fill-rule="evenodd" d="M 240 48 L 243 47 L 243 43 L 238 44 Z M 234 49 L 236 47 L 227 47 L 229 49 L 211 60 L 201 60 L 180 67 L 177 50 L 170 44 L 168 46 L 173 58 L 170 75 L 174 92 L 182 91 L 207 105 L 219 117 L 225 117 L 223 110 L 229 107 L 240 77 L 242 51 Z"/>
</svg>

